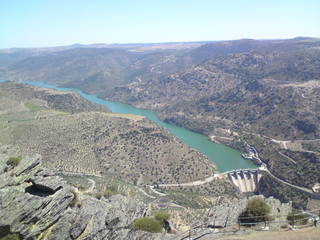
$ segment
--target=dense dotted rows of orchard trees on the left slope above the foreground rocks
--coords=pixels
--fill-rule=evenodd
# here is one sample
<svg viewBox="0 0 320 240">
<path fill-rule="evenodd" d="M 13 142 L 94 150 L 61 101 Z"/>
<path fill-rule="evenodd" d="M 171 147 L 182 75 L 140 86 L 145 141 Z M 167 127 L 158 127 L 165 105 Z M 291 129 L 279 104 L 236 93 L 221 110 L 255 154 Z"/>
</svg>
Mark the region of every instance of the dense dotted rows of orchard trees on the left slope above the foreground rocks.
<svg viewBox="0 0 320 240">
<path fill-rule="evenodd" d="M 94 113 L 52 116 L 42 119 L 16 142 L 23 154 L 39 153 L 48 167 L 99 173 L 94 154 Z"/>
</svg>

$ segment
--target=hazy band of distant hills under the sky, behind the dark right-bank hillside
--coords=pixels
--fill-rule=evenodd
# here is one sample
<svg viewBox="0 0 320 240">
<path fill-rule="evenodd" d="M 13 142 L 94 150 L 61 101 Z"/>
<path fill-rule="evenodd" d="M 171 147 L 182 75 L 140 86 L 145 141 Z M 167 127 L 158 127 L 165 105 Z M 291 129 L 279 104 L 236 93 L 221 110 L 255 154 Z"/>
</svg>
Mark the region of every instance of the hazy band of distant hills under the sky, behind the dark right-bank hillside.
<svg viewBox="0 0 320 240">
<path fill-rule="evenodd" d="M 317 38 L 298 37 L 4 49 L 0 50 L 0 77 L 63 84 L 78 87 L 86 93 L 108 95 L 114 87 L 131 82 L 147 83 L 152 78 L 173 74 L 218 55 L 315 50 L 320 46 L 319 42 Z"/>
</svg>

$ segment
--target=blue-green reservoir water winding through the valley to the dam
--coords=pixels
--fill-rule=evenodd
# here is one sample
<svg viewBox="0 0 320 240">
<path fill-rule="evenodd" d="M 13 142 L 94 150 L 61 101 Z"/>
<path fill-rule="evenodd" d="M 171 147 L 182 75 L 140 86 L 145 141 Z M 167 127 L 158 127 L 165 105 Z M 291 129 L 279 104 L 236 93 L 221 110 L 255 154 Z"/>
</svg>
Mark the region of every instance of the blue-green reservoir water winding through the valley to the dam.
<svg viewBox="0 0 320 240">
<path fill-rule="evenodd" d="M 0 82 L 5 80 L 0 80 Z M 173 124 L 167 124 L 159 120 L 156 116 L 154 111 L 149 111 L 147 109 L 139 109 L 134 108 L 128 104 L 108 101 L 98 98 L 98 94 L 86 94 L 82 92 L 78 88 L 65 88 L 65 87 L 58 87 L 58 85 L 49 85 L 45 84 L 44 82 L 36 82 L 36 81 L 20 81 L 25 84 L 30 84 L 33 86 L 39 87 L 46 87 L 52 88 L 59 91 L 76 91 L 85 99 L 98 103 L 101 105 L 105 105 L 115 113 L 132 113 L 137 115 L 142 115 L 148 117 L 150 120 L 164 126 L 167 128 L 171 133 L 176 135 L 180 138 L 184 143 L 188 144 L 189 146 L 196 148 L 199 152 L 203 153 L 204 155 L 208 156 L 212 162 L 214 162 L 219 172 L 227 172 L 231 170 L 237 169 L 256 169 L 257 166 L 254 165 L 250 160 L 246 160 L 241 157 L 242 152 L 227 147 L 222 144 L 214 143 L 207 139 L 206 136 L 188 131 L 187 129 L 178 127 Z"/>
</svg>

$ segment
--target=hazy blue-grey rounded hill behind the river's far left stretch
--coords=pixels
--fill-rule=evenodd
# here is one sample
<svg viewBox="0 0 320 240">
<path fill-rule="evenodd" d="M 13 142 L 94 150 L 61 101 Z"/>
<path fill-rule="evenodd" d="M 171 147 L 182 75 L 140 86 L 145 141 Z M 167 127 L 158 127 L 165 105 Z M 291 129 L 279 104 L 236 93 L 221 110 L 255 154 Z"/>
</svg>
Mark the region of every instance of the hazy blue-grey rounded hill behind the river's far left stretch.
<svg viewBox="0 0 320 240">
<path fill-rule="evenodd" d="M 7 76 L 14 79 L 45 81 L 50 84 L 63 84 L 84 81 L 86 78 L 105 72 L 115 78 L 108 84 L 116 86 L 125 83 L 121 71 L 136 60 L 137 54 L 125 50 L 109 48 L 74 48 L 52 52 L 44 56 L 30 57 L 15 62 L 7 70 Z M 74 86 L 77 87 L 75 84 Z"/>
</svg>

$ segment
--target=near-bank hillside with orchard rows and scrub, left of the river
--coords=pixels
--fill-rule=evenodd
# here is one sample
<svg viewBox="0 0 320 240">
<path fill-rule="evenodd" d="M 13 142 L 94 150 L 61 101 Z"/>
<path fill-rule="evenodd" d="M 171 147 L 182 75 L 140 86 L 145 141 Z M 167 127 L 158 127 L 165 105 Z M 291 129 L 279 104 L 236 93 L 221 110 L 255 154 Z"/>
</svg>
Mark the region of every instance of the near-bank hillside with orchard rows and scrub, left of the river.
<svg viewBox="0 0 320 240">
<path fill-rule="evenodd" d="M 201 180 L 217 170 L 162 126 L 142 116 L 97 112 L 108 109 L 78 93 L 4 82 L 0 96 L 1 143 L 17 144 L 23 155 L 41 154 L 46 167 L 148 184 Z"/>
</svg>

